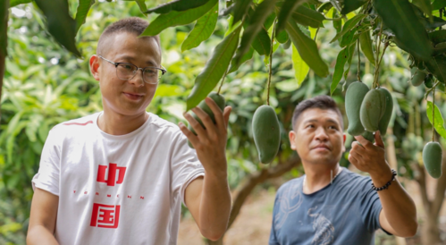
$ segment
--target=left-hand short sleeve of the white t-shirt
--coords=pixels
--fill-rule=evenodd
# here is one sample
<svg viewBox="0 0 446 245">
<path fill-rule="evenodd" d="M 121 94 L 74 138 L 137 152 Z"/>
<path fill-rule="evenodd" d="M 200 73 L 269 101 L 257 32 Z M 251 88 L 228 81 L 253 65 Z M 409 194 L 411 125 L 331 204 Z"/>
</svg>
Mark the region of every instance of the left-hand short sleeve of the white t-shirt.
<svg viewBox="0 0 446 245">
<path fill-rule="evenodd" d="M 57 126 L 49 131 L 46 138 L 38 173 L 32 178 L 32 189 L 36 188 L 46 190 L 56 196 L 59 196 L 59 170 L 60 170 L 60 132 L 56 130 Z"/>
</svg>

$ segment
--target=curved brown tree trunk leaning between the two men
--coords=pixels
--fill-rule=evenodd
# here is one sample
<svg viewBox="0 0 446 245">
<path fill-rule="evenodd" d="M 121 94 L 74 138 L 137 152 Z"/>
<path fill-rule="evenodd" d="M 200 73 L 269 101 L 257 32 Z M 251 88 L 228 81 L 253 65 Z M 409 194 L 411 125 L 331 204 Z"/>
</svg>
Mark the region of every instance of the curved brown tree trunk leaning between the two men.
<svg viewBox="0 0 446 245">
<path fill-rule="evenodd" d="M 251 173 L 247 177 L 245 177 L 245 184 L 241 187 L 240 191 L 237 193 L 234 202 L 231 207 L 231 215 L 229 217 L 228 228 L 229 230 L 231 224 L 234 222 L 235 218 L 240 213 L 240 208 L 243 206 L 243 203 L 248 198 L 249 194 L 252 190 L 257 186 L 257 184 L 265 182 L 268 179 L 273 179 L 276 177 L 282 176 L 283 173 L 289 172 L 293 167 L 300 165 L 299 156 L 294 156 L 287 160 L 285 163 L 281 165 L 275 165 L 274 167 L 264 168 L 259 172 Z M 210 241 L 206 239 L 206 245 L 223 245 L 223 237 L 218 241 Z"/>
</svg>

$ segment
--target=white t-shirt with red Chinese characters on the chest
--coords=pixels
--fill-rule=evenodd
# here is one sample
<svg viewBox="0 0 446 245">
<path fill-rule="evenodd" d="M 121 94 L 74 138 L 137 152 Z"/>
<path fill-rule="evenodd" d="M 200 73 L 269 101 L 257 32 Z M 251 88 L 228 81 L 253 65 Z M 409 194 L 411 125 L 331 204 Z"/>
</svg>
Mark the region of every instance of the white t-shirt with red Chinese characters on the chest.
<svg viewBox="0 0 446 245">
<path fill-rule="evenodd" d="M 138 130 L 110 135 L 101 113 L 63 122 L 46 139 L 33 188 L 59 196 L 60 244 L 176 244 L 181 201 L 204 176 L 179 127 L 149 114 Z"/>
</svg>

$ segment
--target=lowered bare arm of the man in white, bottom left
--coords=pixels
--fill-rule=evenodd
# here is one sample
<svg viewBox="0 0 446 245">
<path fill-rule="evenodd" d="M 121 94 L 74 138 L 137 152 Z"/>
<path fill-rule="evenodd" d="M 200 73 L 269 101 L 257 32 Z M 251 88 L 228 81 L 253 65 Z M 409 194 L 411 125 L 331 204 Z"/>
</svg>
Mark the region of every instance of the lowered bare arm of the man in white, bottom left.
<svg viewBox="0 0 446 245">
<path fill-rule="evenodd" d="M 36 188 L 31 203 L 27 244 L 59 244 L 54 236 L 58 205 L 58 196 Z"/>
</svg>

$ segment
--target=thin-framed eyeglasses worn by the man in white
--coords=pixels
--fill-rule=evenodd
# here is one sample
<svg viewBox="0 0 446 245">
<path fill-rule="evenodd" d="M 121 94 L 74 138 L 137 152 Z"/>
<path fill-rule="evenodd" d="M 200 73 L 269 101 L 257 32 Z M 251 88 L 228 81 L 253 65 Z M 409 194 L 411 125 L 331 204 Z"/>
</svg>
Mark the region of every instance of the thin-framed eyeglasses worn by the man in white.
<svg viewBox="0 0 446 245">
<path fill-rule="evenodd" d="M 132 80 L 136 76 L 138 70 L 141 70 L 142 80 L 144 80 L 144 82 L 149 84 L 156 84 L 158 83 L 158 80 L 160 80 L 161 76 L 163 76 L 164 73 L 167 72 L 163 66 L 161 66 L 163 68 L 151 66 L 139 68 L 133 63 L 114 63 L 113 61 L 105 59 L 102 55 L 97 56 L 108 63 L 114 64 L 114 66 L 116 67 L 116 76 L 120 80 Z"/>
</svg>

